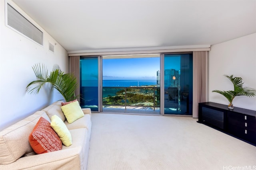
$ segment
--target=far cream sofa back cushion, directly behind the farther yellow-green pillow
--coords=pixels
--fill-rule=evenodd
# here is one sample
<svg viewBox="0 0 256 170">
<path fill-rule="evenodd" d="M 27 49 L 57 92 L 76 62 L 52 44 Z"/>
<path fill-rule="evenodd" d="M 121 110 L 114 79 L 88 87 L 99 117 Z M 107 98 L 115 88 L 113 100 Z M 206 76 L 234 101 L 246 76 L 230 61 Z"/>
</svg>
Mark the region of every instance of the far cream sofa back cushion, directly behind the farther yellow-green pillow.
<svg viewBox="0 0 256 170">
<path fill-rule="evenodd" d="M 53 104 L 51 104 L 50 106 L 42 109 L 42 111 L 45 111 L 46 114 L 48 115 L 49 119 L 53 116 L 53 115 L 57 115 L 58 117 L 60 117 L 60 119 L 62 119 L 62 121 L 66 120 L 65 115 L 63 114 L 62 110 L 61 110 L 61 103 L 63 101 L 57 101 L 54 102 Z"/>
</svg>

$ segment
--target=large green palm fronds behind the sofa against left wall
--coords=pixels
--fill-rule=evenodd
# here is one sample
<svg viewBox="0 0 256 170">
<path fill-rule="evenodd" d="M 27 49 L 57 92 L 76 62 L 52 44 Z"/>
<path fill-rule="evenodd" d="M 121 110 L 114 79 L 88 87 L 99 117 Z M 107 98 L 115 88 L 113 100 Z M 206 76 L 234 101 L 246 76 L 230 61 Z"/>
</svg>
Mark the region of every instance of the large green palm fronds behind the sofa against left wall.
<svg viewBox="0 0 256 170">
<path fill-rule="evenodd" d="M 70 73 L 64 73 L 58 64 L 53 66 L 52 72 L 48 75 L 48 70 L 44 64 L 35 64 L 32 66 L 37 80 L 30 82 L 26 87 L 26 92 L 38 94 L 42 86 L 50 83 L 53 88 L 58 90 L 66 102 L 76 99 L 75 90 L 77 88 L 76 77 Z"/>
</svg>

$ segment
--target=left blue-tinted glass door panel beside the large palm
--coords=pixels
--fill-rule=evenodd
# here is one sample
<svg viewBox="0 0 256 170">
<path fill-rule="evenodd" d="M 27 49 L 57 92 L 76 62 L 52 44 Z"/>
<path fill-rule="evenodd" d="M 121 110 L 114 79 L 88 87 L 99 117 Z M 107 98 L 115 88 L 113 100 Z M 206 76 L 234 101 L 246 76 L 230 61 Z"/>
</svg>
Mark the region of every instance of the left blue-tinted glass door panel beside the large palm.
<svg viewBox="0 0 256 170">
<path fill-rule="evenodd" d="M 81 58 L 80 106 L 98 111 L 98 94 L 98 57 Z"/>
</svg>

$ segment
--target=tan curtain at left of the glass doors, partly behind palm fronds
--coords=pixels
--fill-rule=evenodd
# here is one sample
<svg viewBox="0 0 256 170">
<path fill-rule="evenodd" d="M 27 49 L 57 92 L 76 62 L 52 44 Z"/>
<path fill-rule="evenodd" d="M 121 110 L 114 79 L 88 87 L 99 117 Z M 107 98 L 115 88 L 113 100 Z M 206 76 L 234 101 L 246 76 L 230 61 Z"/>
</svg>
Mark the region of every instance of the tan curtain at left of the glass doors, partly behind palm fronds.
<svg viewBox="0 0 256 170">
<path fill-rule="evenodd" d="M 77 80 L 77 89 L 76 89 L 76 96 L 80 95 L 80 56 L 70 56 L 69 58 L 69 70 L 70 73 L 76 76 Z M 77 99 L 80 102 L 80 98 Z"/>
</svg>

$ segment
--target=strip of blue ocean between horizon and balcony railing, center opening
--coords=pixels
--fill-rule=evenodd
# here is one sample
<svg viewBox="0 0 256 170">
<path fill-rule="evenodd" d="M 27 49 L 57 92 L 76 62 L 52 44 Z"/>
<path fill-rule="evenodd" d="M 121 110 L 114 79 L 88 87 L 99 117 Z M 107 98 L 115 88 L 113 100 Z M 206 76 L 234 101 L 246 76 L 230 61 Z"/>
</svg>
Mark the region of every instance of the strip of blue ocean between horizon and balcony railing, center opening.
<svg viewBox="0 0 256 170">
<path fill-rule="evenodd" d="M 156 85 L 156 80 L 103 80 L 103 87 L 130 87 Z"/>
</svg>

